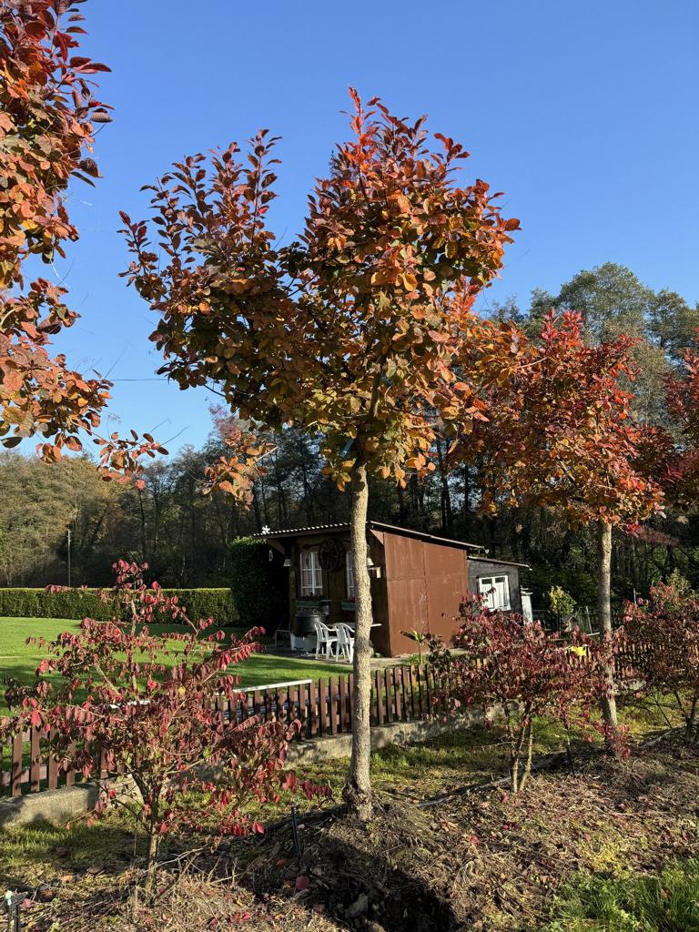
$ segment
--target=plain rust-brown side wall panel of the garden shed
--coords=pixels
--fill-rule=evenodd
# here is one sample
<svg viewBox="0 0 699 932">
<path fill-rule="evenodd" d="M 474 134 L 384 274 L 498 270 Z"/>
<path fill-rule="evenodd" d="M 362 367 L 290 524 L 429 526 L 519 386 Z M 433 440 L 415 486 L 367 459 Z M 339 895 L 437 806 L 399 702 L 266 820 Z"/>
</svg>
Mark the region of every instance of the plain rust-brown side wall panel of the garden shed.
<svg viewBox="0 0 699 932">
<path fill-rule="evenodd" d="M 414 653 L 401 631 L 415 628 L 451 639 L 461 596 L 468 591 L 466 551 L 460 547 L 384 534 L 391 656 Z"/>
</svg>

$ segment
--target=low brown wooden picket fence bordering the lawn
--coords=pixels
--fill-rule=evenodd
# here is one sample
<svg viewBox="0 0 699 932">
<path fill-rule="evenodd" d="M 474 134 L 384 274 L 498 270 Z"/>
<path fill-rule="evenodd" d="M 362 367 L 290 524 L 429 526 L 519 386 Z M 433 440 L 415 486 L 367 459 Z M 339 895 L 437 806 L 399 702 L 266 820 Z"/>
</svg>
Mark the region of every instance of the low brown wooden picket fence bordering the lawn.
<svg viewBox="0 0 699 932">
<path fill-rule="evenodd" d="M 297 680 L 254 687 L 234 703 L 219 703 L 229 723 L 257 717 L 260 721 L 299 720 L 298 740 L 349 733 L 352 729 L 354 677 Z M 372 676 L 372 724 L 425 719 L 435 711 L 437 682 L 428 666 L 387 666 Z M 48 733 L 31 728 L 0 746 L 0 796 L 21 796 L 44 789 L 71 787 L 81 776 L 64 770 L 45 749 Z M 103 774 L 106 775 L 106 774 Z"/>
</svg>

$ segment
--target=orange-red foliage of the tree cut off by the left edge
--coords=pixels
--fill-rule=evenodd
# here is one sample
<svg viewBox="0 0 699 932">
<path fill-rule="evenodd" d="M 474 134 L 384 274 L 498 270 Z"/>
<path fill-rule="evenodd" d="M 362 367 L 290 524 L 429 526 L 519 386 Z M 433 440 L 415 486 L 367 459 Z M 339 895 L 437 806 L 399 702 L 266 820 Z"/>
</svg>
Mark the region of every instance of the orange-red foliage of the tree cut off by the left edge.
<svg viewBox="0 0 699 932">
<path fill-rule="evenodd" d="M 77 239 L 66 192 L 74 179 L 99 177 L 94 127 L 111 119 L 90 79 L 109 69 L 76 54 L 79 3 L 0 0 L 0 437 L 11 447 L 38 434 L 47 461 L 82 449 L 80 434 L 99 427 L 110 388 L 49 353 L 51 336 L 77 318 L 66 289 L 25 281 L 32 257 L 50 264 Z M 135 434 L 100 446 L 106 477 L 140 472 L 139 457 L 157 449 Z"/>
</svg>

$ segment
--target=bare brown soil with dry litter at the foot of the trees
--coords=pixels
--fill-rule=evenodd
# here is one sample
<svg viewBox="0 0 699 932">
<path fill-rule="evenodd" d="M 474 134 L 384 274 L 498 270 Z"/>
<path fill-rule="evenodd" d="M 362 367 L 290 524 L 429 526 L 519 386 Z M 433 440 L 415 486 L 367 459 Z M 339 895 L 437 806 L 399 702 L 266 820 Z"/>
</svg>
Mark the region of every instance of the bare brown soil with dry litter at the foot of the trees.
<svg viewBox="0 0 699 932">
<path fill-rule="evenodd" d="M 339 811 L 306 816 L 301 857 L 284 824 L 202 855 L 184 877 L 164 869 L 153 909 L 129 905 L 135 875 L 112 869 L 64 884 L 23 927 L 524 932 L 545 925 L 577 872 L 656 872 L 699 852 L 698 791 L 699 753 L 672 739 L 625 762 L 589 751 L 576 774 L 540 774 L 521 798 L 481 789 L 419 809 L 406 781 L 377 794 L 369 829 Z"/>
</svg>

